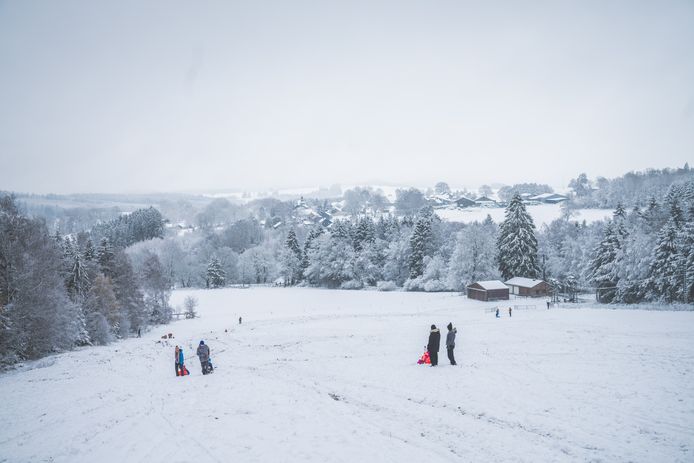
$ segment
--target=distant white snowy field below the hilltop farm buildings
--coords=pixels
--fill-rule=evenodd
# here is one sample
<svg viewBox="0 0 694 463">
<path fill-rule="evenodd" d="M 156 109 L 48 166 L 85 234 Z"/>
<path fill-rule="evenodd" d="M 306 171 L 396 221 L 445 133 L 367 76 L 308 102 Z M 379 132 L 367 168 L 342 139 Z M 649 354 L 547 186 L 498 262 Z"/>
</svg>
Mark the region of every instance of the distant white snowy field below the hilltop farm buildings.
<svg viewBox="0 0 694 463">
<path fill-rule="evenodd" d="M 553 220 L 561 217 L 561 205 L 559 204 L 537 204 L 526 206 L 528 212 L 533 217 L 537 227 L 549 225 Z M 492 216 L 494 222 L 504 220 L 506 209 L 503 207 L 468 207 L 465 209 L 437 209 L 436 214 L 443 220 L 450 222 L 482 222 L 487 218 L 487 214 Z M 610 209 L 578 209 L 571 220 L 588 223 L 612 217 L 613 211 Z"/>
</svg>

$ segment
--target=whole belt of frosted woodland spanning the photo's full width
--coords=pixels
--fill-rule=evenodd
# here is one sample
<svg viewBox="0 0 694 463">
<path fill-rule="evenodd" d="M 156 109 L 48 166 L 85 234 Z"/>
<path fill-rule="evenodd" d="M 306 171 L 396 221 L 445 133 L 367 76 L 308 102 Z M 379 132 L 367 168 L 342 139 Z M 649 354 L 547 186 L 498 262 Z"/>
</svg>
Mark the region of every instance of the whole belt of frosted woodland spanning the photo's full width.
<svg viewBox="0 0 694 463">
<path fill-rule="evenodd" d="M 442 221 L 413 189 L 399 196 L 399 214 L 363 214 L 360 204 L 383 198 L 357 189 L 346 195 L 355 213 L 328 225 L 287 220 L 294 212 L 287 201 L 240 206 L 218 199 L 190 212 L 194 227 L 167 227 L 167 217 L 150 207 L 79 230 L 79 222 L 71 222 L 65 235 L 56 225 L 62 222 L 51 229 L 40 214 L 29 215 L 13 196 L 2 196 L 0 360 L 108 343 L 166 323 L 176 287 L 279 282 L 461 291 L 478 280 L 523 276 L 545 279 L 569 299 L 592 293 L 605 303 L 691 303 L 694 180 L 682 172 L 690 171 L 665 171 L 665 180 L 646 175 L 641 184 L 656 185 L 650 191 L 658 194 L 618 202 L 610 220 L 574 221 L 567 207 L 539 229 L 519 195 L 543 188 L 535 184 L 504 193 L 512 197 L 500 223 L 489 216 L 468 224 Z M 666 180 L 671 183 L 664 187 Z"/>
</svg>

